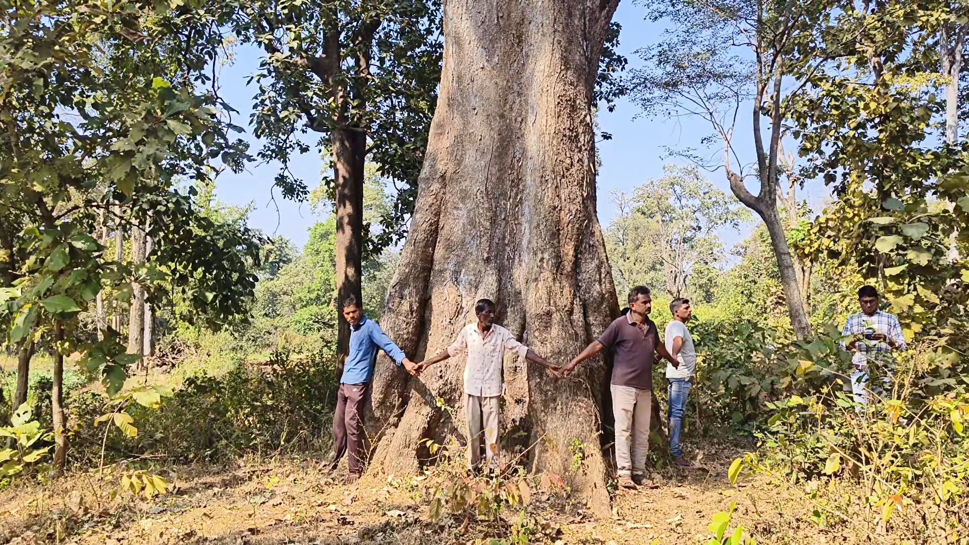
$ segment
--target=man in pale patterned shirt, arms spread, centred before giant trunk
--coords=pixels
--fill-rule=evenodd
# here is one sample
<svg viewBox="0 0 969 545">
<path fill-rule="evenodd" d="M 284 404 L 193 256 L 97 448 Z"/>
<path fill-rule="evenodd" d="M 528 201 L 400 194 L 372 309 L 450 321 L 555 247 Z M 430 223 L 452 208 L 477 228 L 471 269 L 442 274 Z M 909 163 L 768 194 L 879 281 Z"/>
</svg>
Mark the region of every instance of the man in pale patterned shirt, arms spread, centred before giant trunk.
<svg viewBox="0 0 969 545">
<path fill-rule="evenodd" d="M 437 356 L 425 360 L 420 369 L 452 358 L 467 351 L 464 365 L 464 408 L 468 425 L 468 467 L 481 463 L 482 439 L 485 440 L 485 460 L 489 468 L 498 465 L 498 421 L 500 401 L 504 392 L 502 359 L 505 350 L 515 352 L 546 369 L 557 369 L 530 348 L 518 342 L 512 332 L 494 323 L 495 305 L 482 299 L 475 305 L 478 322 L 468 324 L 451 346 Z"/>
</svg>

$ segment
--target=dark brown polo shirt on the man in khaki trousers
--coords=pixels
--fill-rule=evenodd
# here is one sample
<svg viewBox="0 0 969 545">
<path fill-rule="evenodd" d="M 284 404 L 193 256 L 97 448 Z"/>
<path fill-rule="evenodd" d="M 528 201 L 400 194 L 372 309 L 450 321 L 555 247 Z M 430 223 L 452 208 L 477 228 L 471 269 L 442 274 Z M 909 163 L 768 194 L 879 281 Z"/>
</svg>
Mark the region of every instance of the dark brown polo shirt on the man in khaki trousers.
<svg viewBox="0 0 969 545">
<path fill-rule="evenodd" d="M 619 316 L 599 337 L 607 348 L 611 348 L 612 384 L 633 386 L 643 390 L 653 387 L 653 363 L 656 362 L 656 345 L 660 342 L 656 324 L 646 317 L 641 328 L 633 321 L 632 311 Z"/>
</svg>

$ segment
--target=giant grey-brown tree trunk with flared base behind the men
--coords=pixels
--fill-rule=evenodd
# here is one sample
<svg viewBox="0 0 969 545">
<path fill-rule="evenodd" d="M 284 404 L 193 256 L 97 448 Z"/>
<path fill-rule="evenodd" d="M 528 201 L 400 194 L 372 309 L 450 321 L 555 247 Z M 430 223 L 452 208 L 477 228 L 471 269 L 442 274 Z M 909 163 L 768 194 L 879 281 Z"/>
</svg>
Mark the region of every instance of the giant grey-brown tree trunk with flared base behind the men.
<svg viewBox="0 0 969 545">
<path fill-rule="evenodd" d="M 498 304 L 516 337 L 559 365 L 618 314 L 596 218 L 590 110 L 617 3 L 445 4 L 441 93 L 384 313 L 383 325 L 408 355 L 450 344 L 483 297 Z M 458 356 L 408 380 L 381 356 L 371 424 L 382 438 L 371 470 L 414 473 L 419 454 L 426 456 L 423 437 L 441 441 L 463 429 L 463 410 L 452 419 L 436 400 L 460 407 L 464 363 Z M 608 516 L 600 441 L 605 362 L 590 361 L 578 379 L 552 378 L 512 356 L 505 364 L 503 435 L 524 432 L 518 446 L 534 443 L 531 466 L 571 478 L 594 511 Z M 575 439 L 585 459 L 571 474 Z"/>
</svg>

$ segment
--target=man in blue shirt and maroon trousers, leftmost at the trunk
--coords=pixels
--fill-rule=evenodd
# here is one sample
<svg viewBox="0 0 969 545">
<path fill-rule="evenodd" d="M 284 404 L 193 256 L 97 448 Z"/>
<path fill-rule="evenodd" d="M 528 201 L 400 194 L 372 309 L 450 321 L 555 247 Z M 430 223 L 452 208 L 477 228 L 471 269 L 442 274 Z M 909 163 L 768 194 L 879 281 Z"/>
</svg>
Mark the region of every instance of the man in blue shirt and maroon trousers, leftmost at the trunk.
<svg viewBox="0 0 969 545">
<path fill-rule="evenodd" d="M 363 429 L 363 414 L 370 399 L 370 379 L 377 359 L 377 350 L 387 352 L 396 362 L 412 375 L 418 374 L 418 366 L 407 359 L 390 337 L 380 329 L 377 322 L 363 315 L 363 308 L 357 298 L 351 296 L 343 302 L 343 317 L 350 323 L 350 354 L 343 365 L 340 389 L 336 395 L 336 414 L 333 415 L 333 464 L 335 468 L 348 448 L 347 459 L 349 475 L 347 482 L 359 479 L 366 458 L 366 432 Z"/>
</svg>

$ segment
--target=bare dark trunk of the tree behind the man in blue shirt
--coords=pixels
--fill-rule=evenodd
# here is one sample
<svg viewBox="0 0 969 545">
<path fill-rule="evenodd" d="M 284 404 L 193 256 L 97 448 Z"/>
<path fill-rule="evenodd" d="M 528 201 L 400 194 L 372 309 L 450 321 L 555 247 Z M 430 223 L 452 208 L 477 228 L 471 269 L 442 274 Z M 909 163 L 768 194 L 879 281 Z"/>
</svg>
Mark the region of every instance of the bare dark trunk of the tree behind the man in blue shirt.
<svg viewBox="0 0 969 545">
<path fill-rule="evenodd" d="M 333 130 L 333 179 L 336 197 L 336 336 L 337 376 L 350 349 L 350 324 L 343 318 L 343 302 L 353 296 L 360 305 L 361 256 L 363 253 L 363 165 L 366 136 L 352 129 Z"/>
</svg>

